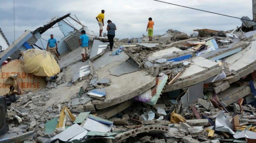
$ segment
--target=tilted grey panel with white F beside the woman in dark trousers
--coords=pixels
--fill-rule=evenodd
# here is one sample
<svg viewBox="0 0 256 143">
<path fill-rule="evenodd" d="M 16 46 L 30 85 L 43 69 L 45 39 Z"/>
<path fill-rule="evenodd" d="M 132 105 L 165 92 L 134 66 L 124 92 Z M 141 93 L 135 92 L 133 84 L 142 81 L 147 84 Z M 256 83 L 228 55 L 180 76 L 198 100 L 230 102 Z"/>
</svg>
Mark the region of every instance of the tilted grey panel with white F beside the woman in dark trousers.
<svg viewBox="0 0 256 143">
<path fill-rule="evenodd" d="M 100 55 L 103 55 L 104 52 L 107 50 L 107 45 L 109 42 L 102 42 L 99 40 L 93 40 L 93 44 L 91 47 L 91 54 L 90 54 L 90 60 L 94 60 Z"/>
</svg>

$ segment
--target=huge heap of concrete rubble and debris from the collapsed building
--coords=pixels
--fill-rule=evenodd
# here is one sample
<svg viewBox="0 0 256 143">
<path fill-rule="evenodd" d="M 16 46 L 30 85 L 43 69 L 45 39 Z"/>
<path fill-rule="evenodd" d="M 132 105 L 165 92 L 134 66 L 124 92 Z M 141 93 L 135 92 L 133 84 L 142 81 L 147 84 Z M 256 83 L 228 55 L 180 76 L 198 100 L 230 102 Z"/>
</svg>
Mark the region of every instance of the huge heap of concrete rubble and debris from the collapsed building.
<svg viewBox="0 0 256 143">
<path fill-rule="evenodd" d="M 255 142 L 256 31 L 242 22 L 230 31 L 168 30 L 153 41 L 115 38 L 113 52 L 82 26 L 60 41 L 68 46 L 61 72 L 7 107 L 0 142 Z M 76 43 L 82 29 L 86 62 Z"/>
</svg>

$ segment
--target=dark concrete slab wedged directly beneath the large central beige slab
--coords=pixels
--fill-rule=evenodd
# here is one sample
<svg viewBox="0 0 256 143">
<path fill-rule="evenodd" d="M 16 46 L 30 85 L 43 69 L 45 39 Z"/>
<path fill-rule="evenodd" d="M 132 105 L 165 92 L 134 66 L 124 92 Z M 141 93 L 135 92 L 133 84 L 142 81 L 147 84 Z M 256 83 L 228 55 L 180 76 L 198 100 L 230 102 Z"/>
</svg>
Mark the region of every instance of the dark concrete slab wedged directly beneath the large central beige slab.
<svg viewBox="0 0 256 143">
<path fill-rule="evenodd" d="M 122 112 L 124 109 L 128 108 L 131 106 L 131 100 L 125 101 L 123 103 L 120 103 L 118 105 L 108 107 L 106 109 L 102 109 L 96 112 L 98 117 L 101 117 L 103 119 L 110 118 L 114 115 L 116 115 L 119 112 Z"/>
</svg>

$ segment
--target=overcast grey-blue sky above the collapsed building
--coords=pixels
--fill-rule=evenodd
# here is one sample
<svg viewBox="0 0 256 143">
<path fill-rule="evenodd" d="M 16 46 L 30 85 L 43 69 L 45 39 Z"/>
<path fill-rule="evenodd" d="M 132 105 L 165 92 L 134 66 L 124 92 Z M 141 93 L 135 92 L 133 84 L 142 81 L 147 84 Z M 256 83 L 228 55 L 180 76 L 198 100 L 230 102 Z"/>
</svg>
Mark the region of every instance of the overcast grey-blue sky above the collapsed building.
<svg viewBox="0 0 256 143">
<path fill-rule="evenodd" d="M 252 18 L 251 0 L 163 0 L 188 7 L 222 13 L 234 17 Z M 154 35 L 164 34 L 168 29 L 193 32 L 193 29 L 208 28 L 231 30 L 241 26 L 239 19 L 211 13 L 177 7 L 153 0 L 15 0 L 15 37 L 24 30 L 34 31 L 47 24 L 54 16 L 63 16 L 69 12 L 97 35 L 99 26 L 95 19 L 101 10 L 105 10 L 105 21 L 112 20 L 117 26 L 117 38 L 141 37 L 146 35 L 148 18 L 155 23 Z M 13 0 L 0 1 L 0 28 L 8 41 L 12 43 Z M 70 20 L 71 21 L 71 20 Z M 77 28 L 81 28 L 78 24 Z M 106 32 L 106 26 L 103 27 Z M 57 40 L 63 37 L 58 27 L 49 29 L 42 37 L 48 39 L 54 34 Z"/>
</svg>

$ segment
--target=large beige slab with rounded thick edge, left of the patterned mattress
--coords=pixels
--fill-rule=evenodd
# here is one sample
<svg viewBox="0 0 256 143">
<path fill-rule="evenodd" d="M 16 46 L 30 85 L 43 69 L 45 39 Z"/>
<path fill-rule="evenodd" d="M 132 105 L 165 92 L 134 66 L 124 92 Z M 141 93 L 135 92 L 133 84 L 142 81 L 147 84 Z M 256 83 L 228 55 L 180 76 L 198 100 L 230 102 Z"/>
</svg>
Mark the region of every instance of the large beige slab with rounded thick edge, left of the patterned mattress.
<svg viewBox="0 0 256 143">
<path fill-rule="evenodd" d="M 121 61 L 122 62 L 122 61 Z M 120 62 L 119 62 L 120 63 Z M 140 93 L 152 88 L 156 84 L 156 79 L 149 75 L 145 70 L 139 70 L 121 76 L 113 76 L 109 73 L 108 69 L 114 67 L 118 62 L 112 63 L 107 67 L 102 67 L 97 71 L 98 76 L 101 78 L 111 79 L 111 85 L 105 87 L 106 99 L 99 105 L 95 105 L 97 109 L 107 108 L 122 102 L 125 102 Z M 142 80 L 143 79 L 143 80 Z"/>
</svg>

